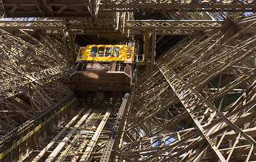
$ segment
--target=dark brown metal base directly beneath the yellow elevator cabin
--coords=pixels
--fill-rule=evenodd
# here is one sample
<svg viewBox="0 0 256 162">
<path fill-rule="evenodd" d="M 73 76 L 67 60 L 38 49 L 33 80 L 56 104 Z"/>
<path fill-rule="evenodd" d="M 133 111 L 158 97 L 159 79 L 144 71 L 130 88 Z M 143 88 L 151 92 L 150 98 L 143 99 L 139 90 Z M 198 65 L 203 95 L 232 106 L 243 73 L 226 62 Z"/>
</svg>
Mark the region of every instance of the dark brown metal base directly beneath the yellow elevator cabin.
<svg viewBox="0 0 256 162">
<path fill-rule="evenodd" d="M 71 74 L 73 90 L 124 91 L 130 90 L 132 68 L 123 63 L 81 63 Z"/>
</svg>

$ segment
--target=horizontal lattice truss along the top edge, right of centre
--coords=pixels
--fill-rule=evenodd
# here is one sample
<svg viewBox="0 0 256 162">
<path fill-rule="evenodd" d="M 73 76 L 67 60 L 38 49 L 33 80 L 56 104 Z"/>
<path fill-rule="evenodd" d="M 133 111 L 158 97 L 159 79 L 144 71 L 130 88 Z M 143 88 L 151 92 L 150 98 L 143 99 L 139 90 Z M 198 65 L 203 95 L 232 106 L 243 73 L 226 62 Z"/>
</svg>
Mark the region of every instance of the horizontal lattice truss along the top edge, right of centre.
<svg viewBox="0 0 256 162">
<path fill-rule="evenodd" d="M 169 11 L 179 11 L 185 9 L 191 1 L 107 1 L 108 8 L 125 8 L 125 9 L 165 9 Z M 254 12 L 254 1 L 208 1 L 209 7 L 204 8 L 200 4 L 195 5 L 191 11 L 231 11 L 231 12 Z M 104 4 L 103 4 L 104 5 Z M 102 5 L 102 6 L 103 6 Z"/>
</svg>

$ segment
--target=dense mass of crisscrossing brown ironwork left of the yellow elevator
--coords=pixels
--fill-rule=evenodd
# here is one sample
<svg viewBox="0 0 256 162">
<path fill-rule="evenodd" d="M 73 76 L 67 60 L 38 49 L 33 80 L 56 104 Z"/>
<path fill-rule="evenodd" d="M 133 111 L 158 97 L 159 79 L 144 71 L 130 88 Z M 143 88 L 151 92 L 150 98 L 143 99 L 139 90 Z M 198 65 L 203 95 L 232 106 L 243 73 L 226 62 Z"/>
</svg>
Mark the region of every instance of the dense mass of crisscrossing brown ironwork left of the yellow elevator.
<svg viewBox="0 0 256 162">
<path fill-rule="evenodd" d="M 9 123 L 0 132 L 6 134 L 71 90 L 65 85 L 69 67 L 60 40 L 38 41 L 26 30 L 20 30 L 22 37 L 0 32 L 0 122 Z"/>
</svg>

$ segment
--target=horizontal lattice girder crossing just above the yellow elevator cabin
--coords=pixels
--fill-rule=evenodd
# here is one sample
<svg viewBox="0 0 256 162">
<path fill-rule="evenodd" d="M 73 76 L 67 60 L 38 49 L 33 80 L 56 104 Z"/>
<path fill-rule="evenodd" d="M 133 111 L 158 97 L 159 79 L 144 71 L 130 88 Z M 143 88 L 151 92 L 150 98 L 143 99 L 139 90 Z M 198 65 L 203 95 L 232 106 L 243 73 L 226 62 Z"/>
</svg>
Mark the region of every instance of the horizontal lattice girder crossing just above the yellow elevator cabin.
<svg viewBox="0 0 256 162">
<path fill-rule="evenodd" d="M 174 20 L 128 20 L 126 21 L 125 28 L 131 29 L 132 34 L 143 34 L 142 29 L 156 29 L 157 34 L 194 34 L 194 30 L 208 30 L 215 29 L 221 30 L 222 20 L 181 20 L 177 26 L 168 30 Z M 86 24 L 86 22 L 76 22 L 72 24 L 70 22 L 63 22 L 62 20 L 0 20 L 0 28 L 2 29 L 33 29 L 33 30 L 46 30 L 46 33 L 61 34 L 62 30 L 67 28 L 74 34 L 92 34 L 92 30 L 96 30 L 95 33 L 100 33 L 101 29 L 111 30 L 115 32 L 113 25 L 101 24 L 93 25 Z M 136 31 L 135 31 L 136 30 Z"/>
</svg>

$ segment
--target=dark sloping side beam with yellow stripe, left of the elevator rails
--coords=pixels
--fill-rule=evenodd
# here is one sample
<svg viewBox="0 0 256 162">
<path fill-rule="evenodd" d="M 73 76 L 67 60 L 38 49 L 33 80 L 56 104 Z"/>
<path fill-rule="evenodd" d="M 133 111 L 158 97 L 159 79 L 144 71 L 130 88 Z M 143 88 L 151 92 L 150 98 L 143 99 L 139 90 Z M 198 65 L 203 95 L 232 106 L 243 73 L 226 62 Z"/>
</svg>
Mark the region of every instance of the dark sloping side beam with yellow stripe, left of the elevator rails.
<svg viewBox="0 0 256 162">
<path fill-rule="evenodd" d="M 54 105 L 51 105 L 44 111 L 38 113 L 28 121 L 24 122 L 24 124 L 22 124 L 18 128 L 12 130 L 12 132 L 1 137 L 0 159 L 7 159 L 6 155 L 8 155 L 9 159 L 12 161 L 22 161 L 26 159 L 26 157 L 32 153 L 33 149 L 40 148 L 38 144 L 38 139 L 44 139 L 45 135 L 50 136 L 54 131 L 55 127 L 60 126 L 59 124 L 62 119 L 65 120 L 67 118 L 67 115 L 73 115 L 73 112 L 75 111 L 77 105 L 78 101 L 75 98 L 74 94 L 68 94 L 66 97 L 63 97 Z M 82 111 L 80 111 L 78 115 L 81 113 Z M 73 117 L 69 124 L 67 124 L 67 127 L 62 130 L 62 132 L 65 132 L 65 130 L 68 129 L 69 125 L 75 121 L 78 115 Z M 22 138 L 18 140 L 16 136 L 20 136 Z M 36 157 L 36 159 L 39 158 Z"/>
</svg>

